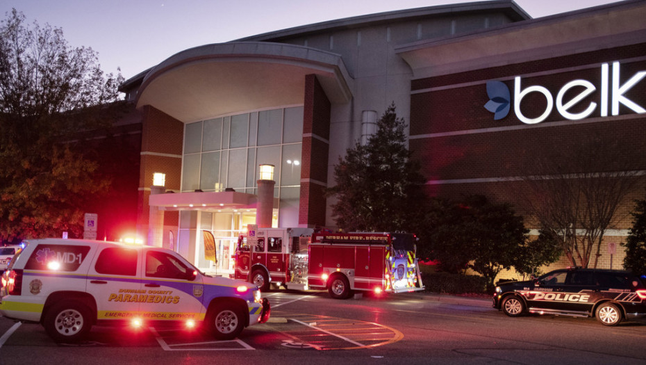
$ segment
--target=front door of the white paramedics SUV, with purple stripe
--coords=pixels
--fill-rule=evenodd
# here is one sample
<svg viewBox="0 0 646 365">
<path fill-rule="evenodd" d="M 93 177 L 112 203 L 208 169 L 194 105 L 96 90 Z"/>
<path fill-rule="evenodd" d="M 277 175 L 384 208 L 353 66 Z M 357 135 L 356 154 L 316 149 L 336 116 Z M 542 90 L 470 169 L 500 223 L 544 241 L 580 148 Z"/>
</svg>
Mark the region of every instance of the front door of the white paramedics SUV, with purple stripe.
<svg viewBox="0 0 646 365">
<path fill-rule="evenodd" d="M 144 250 L 142 289 L 144 300 L 140 311 L 145 319 L 201 321 L 201 276 L 188 262 L 174 252 Z"/>
</svg>

